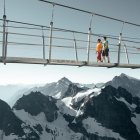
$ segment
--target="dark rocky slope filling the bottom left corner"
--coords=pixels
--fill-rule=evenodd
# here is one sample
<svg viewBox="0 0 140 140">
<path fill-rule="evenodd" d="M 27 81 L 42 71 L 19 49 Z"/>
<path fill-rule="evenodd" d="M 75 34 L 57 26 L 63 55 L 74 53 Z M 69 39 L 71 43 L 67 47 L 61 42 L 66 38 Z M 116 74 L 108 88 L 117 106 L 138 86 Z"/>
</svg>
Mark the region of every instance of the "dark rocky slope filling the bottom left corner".
<svg viewBox="0 0 140 140">
<path fill-rule="evenodd" d="M 38 139 L 38 134 L 29 126 L 26 126 L 16 115 L 12 109 L 3 101 L 0 100 L 0 130 L 1 140 L 12 138 L 14 140 L 35 140 Z M 13 136 L 12 136 L 13 135 Z"/>
</svg>

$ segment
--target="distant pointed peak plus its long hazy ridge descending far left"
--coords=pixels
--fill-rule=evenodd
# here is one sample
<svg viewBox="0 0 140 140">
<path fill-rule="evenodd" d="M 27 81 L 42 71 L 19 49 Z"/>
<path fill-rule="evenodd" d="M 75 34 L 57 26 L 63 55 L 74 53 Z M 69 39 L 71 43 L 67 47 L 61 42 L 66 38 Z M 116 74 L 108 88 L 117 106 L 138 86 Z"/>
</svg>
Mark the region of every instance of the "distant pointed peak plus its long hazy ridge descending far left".
<svg viewBox="0 0 140 140">
<path fill-rule="evenodd" d="M 66 96 L 74 96 L 77 92 L 82 90 L 87 90 L 89 87 L 86 87 L 79 83 L 72 83 L 67 78 L 63 77 L 57 82 L 49 83 L 43 86 L 34 86 L 32 88 L 25 88 L 21 91 L 17 92 L 16 96 L 13 96 L 12 99 L 9 100 L 10 106 L 13 106 L 15 102 L 21 98 L 23 95 L 28 95 L 32 91 L 39 91 L 44 95 L 52 96 L 56 99 L 62 99 Z"/>
</svg>

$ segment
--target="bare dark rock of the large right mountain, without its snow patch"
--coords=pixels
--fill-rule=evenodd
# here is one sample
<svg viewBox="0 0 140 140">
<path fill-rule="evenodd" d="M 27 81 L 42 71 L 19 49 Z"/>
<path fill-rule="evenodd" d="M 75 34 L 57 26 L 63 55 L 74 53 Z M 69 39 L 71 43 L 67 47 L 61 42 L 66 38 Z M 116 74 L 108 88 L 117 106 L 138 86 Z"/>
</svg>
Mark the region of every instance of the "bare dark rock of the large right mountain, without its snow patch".
<svg viewBox="0 0 140 140">
<path fill-rule="evenodd" d="M 94 136 L 89 135 L 84 128 L 82 128 L 82 121 L 88 117 L 94 118 L 103 127 L 111 129 L 114 132 L 120 134 L 121 137 L 127 140 L 138 140 L 140 134 L 137 131 L 136 125 L 132 122 L 131 118 L 135 118 L 137 107 L 140 106 L 140 102 L 137 103 L 137 107 L 130 110 L 124 102 L 120 99 L 123 98 L 131 106 L 135 103 L 135 98 L 132 97 L 125 89 L 115 89 L 111 86 L 105 87 L 101 94 L 90 98 L 83 108 L 83 115 L 79 116 L 76 120 L 80 124 L 71 127 L 76 132 L 83 132 L 92 139 Z M 140 100 L 139 100 L 140 101 Z M 139 114 L 139 113 L 138 113 Z M 97 137 L 97 136 L 96 136 Z"/>
</svg>

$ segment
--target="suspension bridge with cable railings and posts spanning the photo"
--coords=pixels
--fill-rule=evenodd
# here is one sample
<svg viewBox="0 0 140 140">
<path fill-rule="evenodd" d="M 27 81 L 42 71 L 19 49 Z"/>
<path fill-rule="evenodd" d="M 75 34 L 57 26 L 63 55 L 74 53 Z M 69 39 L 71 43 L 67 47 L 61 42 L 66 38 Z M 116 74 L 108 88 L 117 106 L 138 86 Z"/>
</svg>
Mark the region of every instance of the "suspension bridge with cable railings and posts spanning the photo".
<svg viewBox="0 0 140 140">
<path fill-rule="evenodd" d="M 126 24 L 138 28 L 140 27 L 139 24 L 47 0 L 39 1 L 51 4 L 53 7 L 49 26 L 8 20 L 4 4 L 4 15 L 0 19 L 1 63 L 140 68 L 140 62 L 135 61 L 135 59 L 140 58 L 140 38 L 123 36 L 123 28 Z M 89 30 L 82 32 L 54 27 L 55 6 L 91 15 Z M 93 16 L 120 22 L 122 24 L 120 34 L 113 36 L 92 33 Z M 111 63 L 96 62 L 95 46 L 97 42 L 93 41 L 92 38 L 97 39 L 104 36 L 107 36 L 109 40 Z M 112 40 L 117 43 L 111 43 Z"/>
</svg>

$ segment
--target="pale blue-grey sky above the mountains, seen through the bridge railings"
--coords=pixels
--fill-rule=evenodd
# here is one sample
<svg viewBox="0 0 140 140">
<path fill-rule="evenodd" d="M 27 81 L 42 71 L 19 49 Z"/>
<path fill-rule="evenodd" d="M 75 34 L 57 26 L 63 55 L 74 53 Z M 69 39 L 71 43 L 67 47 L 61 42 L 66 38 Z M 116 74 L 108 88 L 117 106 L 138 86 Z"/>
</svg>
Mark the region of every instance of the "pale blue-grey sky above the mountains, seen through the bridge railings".
<svg viewBox="0 0 140 140">
<path fill-rule="evenodd" d="M 60 4 L 68 5 L 71 7 L 92 11 L 101 15 L 121 19 L 140 25 L 140 1 L 139 0 L 52 0 Z M 13 21 L 21 21 L 26 23 L 39 24 L 49 26 L 52 16 L 53 6 L 47 3 L 40 2 L 38 0 L 6 0 L 6 16 L 7 19 Z M 3 0 L 0 0 L 0 17 L 3 17 Z M 90 26 L 90 20 L 92 16 L 86 13 L 74 11 L 71 9 L 54 6 L 53 26 L 57 28 L 64 28 L 69 30 L 88 32 Z M 2 25 L 2 22 L 0 21 Z M 8 23 L 8 25 L 10 25 Z M 17 25 L 19 26 L 19 25 Z M 119 36 L 123 27 L 123 36 L 138 38 L 140 40 L 140 27 L 130 26 L 127 24 L 112 21 L 98 16 L 92 18 L 92 33 L 105 34 L 112 36 Z M 2 30 L 2 28 L 1 28 Z M 10 32 L 20 32 L 21 29 L 8 29 Z M 23 30 L 22 33 L 34 33 L 41 35 L 41 31 Z M 49 31 L 45 31 L 45 35 L 49 36 Z M 53 33 L 54 36 L 60 36 L 61 34 Z M 63 33 L 62 37 L 73 38 L 71 33 Z M 87 40 L 87 36 L 75 34 L 76 39 Z M 2 40 L 2 34 L 0 34 Z M 16 35 L 9 35 L 9 41 L 29 43 L 42 43 L 42 39 L 36 39 L 31 37 L 21 38 Z M 93 36 L 92 40 L 96 42 L 97 37 Z M 109 43 L 117 44 L 118 40 L 108 39 Z M 49 42 L 48 40 L 46 41 Z M 58 40 L 53 41 L 53 44 L 65 44 L 71 45 L 72 41 L 60 42 Z M 131 42 L 123 42 L 128 46 L 137 46 L 139 44 L 132 44 Z M 78 43 L 77 43 L 78 44 Z M 79 46 L 86 47 L 87 43 L 79 42 Z M 95 49 L 96 43 L 92 44 Z M 117 46 L 111 49 L 117 49 Z M 123 49 L 123 48 L 122 48 Z M 46 57 L 48 57 L 48 48 L 46 49 Z M 0 54 L 2 53 L 2 44 L 0 44 Z M 8 45 L 8 56 L 27 56 L 27 57 L 42 57 L 42 49 L 40 47 L 28 47 Z M 85 60 L 87 57 L 86 52 L 78 52 L 79 59 Z M 52 58 L 69 59 L 73 56 L 73 51 L 61 50 L 59 48 L 53 48 Z M 131 55 L 130 62 L 140 64 L 140 54 Z M 117 54 L 110 52 L 111 62 L 116 62 Z M 95 52 L 90 54 L 90 61 L 96 61 Z M 121 56 L 121 62 L 126 63 L 125 55 Z M 72 82 L 78 83 L 99 83 L 107 82 L 114 76 L 125 73 L 129 76 L 140 79 L 140 69 L 126 69 L 126 68 L 101 68 L 101 67 L 76 67 L 76 66 L 58 66 L 58 65 L 32 65 L 32 64 L 0 64 L 0 85 L 5 84 L 43 84 L 55 82 L 62 77 L 67 77 Z"/>
</svg>

